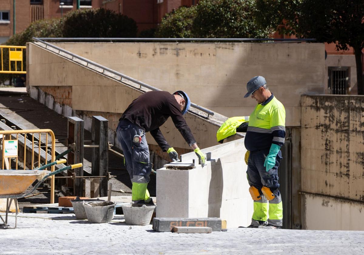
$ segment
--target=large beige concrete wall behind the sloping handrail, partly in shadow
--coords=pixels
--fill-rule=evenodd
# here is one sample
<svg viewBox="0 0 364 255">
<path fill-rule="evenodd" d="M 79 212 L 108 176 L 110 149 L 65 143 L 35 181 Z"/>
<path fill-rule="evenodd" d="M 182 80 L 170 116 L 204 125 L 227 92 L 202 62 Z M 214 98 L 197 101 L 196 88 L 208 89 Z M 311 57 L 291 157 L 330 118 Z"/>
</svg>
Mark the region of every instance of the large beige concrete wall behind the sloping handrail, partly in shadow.
<svg viewBox="0 0 364 255">
<path fill-rule="evenodd" d="M 193 102 L 227 117 L 250 115 L 246 82 L 265 76 L 284 104 L 286 125 L 300 126 L 302 94 L 323 94 L 319 43 L 55 43 L 162 90 L 185 90 Z"/>
</svg>

